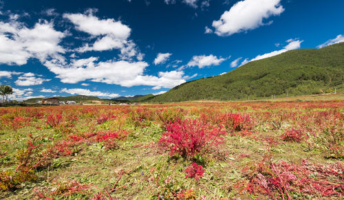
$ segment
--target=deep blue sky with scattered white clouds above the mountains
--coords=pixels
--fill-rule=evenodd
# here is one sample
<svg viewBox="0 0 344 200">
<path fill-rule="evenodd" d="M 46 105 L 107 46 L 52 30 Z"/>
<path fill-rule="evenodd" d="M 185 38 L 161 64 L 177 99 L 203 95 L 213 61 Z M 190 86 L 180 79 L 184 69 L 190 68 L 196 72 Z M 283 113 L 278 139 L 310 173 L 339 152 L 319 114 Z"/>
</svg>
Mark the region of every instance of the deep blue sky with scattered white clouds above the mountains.
<svg viewBox="0 0 344 200">
<path fill-rule="evenodd" d="M 163 93 L 252 60 L 344 41 L 344 1 L 0 1 L 12 99 Z"/>
</svg>

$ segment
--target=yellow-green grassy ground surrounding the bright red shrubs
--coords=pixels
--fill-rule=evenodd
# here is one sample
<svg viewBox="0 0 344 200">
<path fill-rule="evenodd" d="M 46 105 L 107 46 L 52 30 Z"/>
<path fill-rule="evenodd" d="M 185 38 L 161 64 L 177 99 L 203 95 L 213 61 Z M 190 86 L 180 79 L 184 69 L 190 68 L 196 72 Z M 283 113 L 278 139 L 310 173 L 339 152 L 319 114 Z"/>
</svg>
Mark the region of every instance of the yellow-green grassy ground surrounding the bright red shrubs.
<svg viewBox="0 0 344 200">
<path fill-rule="evenodd" d="M 2 186 L 7 183 L 6 178 L 14 179 L 21 170 L 25 174 L 25 168 L 21 169 L 20 166 L 23 159 L 19 155 L 28 149 L 27 142 L 32 140 L 30 137 L 37 138 L 39 151 L 32 153 L 31 157 L 25 157 L 32 161 L 31 165 L 28 164 L 29 168 L 33 166 L 28 173 L 30 171 L 35 178 L 13 182 L 8 188 L 3 187 L 0 198 L 90 199 L 102 194 L 105 199 L 109 199 L 109 196 L 112 199 L 279 199 L 283 195 L 286 199 L 287 196 L 290 199 L 326 199 L 323 193 L 308 193 L 292 188 L 286 189 L 286 192 L 270 188 L 272 195 L 262 189 L 252 192 L 247 188 L 250 181 L 255 180 L 250 177 L 261 173 L 252 172 L 254 166 L 267 156 L 270 161 L 264 163 L 264 166 L 281 161 L 302 166 L 303 159 L 307 159 L 310 164 L 327 165 L 329 168 L 332 168 L 330 164 L 343 164 L 343 95 L 326 97 L 340 100 L 1 108 Z M 218 146 L 213 145 L 206 153 L 193 158 L 170 155 L 166 148 L 159 145 L 169 120 L 179 116 L 183 119 L 203 119 L 217 126 L 217 121 L 211 119 L 222 113 L 250 115 L 254 125 L 250 129 L 224 130 L 224 142 Z M 49 116 L 58 114 L 63 116 L 60 124 L 49 126 Z M 202 118 L 202 115 L 208 117 Z M 71 116 L 77 120 L 70 120 Z M 105 121 L 101 120 L 104 116 L 107 117 Z M 17 119 L 19 117 L 21 119 Z M 242 123 L 246 126 L 248 122 Z M 332 145 L 339 146 L 338 151 L 330 151 L 323 147 L 327 143 L 318 141 L 319 138 L 327 138 L 322 134 L 331 127 L 336 129 L 331 133 L 336 133 L 338 140 Z M 292 128 L 303 130 L 303 140 L 293 142 L 282 139 L 281 135 Z M 94 140 L 106 131 L 119 133 L 121 130 L 125 134 L 120 139 Z M 95 136 L 85 137 L 85 133 L 94 133 Z M 313 136 L 315 133 L 318 135 Z M 71 141 L 71 135 L 83 135 L 83 138 L 59 147 L 63 149 L 68 146 L 72 153 L 65 155 L 57 152 L 53 146 Z M 47 153 L 51 148 L 54 149 Z M 186 168 L 193 162 L 204 169 L 199 180 L 185 177 Z M 14 173 L 16 168 L 18 173 Z M 6 173 L 10 175 L 6 177 Z M 316 177 L 316 173 L 309 176 Z M 341 180 L 338 184 L 343 184 L 343 177 L 339 179 L 338 175 L 329 175 L 326 180 Z M 114 190 L 110 192 L 111 189 Z M 343 188 L 334 190 L 343 195 Z M 331 198 L 341 199 L 342 195 Z"/>
</svg>

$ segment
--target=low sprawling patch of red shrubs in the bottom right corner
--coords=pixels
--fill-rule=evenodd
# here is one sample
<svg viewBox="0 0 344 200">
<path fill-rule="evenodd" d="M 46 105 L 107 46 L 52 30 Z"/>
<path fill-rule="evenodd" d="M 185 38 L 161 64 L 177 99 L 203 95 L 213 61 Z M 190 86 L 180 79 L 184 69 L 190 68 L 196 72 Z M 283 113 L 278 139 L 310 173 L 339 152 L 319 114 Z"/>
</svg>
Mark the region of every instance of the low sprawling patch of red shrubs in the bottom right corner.
<svg viewBox="0 0 344 200">
<path fill-rule="evenodd" d="M 342 197 L 344 166 L 341 162 L 322 165 L 303 159 L 301 165 L 270 161 L 246 166 L 249 168 L 246 190 L 272 199 L 290 199 L 290 192 L 316 197 Z M 303 198 L 300 198 L 303 199 Z"/>
</svg>

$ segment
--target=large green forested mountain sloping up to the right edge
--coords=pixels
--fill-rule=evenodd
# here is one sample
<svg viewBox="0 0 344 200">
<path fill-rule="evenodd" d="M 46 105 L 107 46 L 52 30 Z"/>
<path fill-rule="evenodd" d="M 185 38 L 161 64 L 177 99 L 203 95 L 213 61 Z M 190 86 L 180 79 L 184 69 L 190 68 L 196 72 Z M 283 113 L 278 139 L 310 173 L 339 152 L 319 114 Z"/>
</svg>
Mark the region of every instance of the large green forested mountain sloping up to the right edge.
<svg viewBox="0 0 344 200">
<path fill-rule="evenodd" d="M 226 74 L 185 82 L 144 101 L 247 100 L 344 90 L 344 43 L 296 49 Z"/>
</svg>

